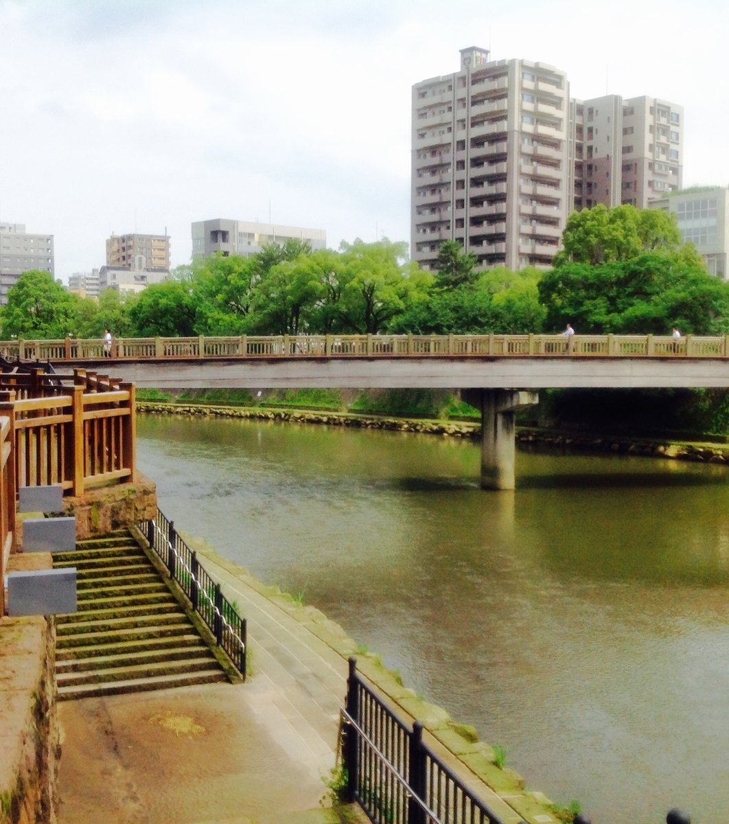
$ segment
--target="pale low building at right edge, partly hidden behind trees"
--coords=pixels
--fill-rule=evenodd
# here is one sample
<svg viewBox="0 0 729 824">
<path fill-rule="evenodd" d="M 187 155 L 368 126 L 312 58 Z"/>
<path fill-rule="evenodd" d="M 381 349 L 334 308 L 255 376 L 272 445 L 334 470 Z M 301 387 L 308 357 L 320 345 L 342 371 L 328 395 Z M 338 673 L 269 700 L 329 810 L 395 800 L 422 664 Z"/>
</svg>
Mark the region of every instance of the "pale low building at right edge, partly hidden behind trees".
<svg viewBox="0 0 729 824">
<path fill-rule="evenodd" d="M 675 214 L 681 240 L 696 246 L 709 274 L 729 279 L 729 189 L 705 186 L 677 191 L 650 206 Z"/>
</svg>

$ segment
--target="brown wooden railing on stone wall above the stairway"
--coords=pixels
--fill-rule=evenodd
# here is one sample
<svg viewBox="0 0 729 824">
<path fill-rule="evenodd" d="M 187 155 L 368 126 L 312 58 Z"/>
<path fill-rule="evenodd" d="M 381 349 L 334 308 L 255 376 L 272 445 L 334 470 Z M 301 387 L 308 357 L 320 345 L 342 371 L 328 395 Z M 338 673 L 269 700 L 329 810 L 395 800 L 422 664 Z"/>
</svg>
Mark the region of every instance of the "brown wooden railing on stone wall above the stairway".
<svg viewBox="0 0 729 824">
<path fill-rule="evenodd" d="M 60 484 L 80 495 L 134 476 L 131 383 L 82 370 L 0 375 L 0 415 L 11 421 L 16 489 Z"/>
</svg>

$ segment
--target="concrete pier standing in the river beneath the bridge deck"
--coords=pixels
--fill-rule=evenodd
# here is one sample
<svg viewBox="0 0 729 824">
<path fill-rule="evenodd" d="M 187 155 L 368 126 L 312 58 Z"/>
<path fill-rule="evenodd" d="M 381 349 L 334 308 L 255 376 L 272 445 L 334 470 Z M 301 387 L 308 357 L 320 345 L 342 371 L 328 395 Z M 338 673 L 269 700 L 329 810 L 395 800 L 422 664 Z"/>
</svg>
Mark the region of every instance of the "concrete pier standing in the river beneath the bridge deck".
<svg viewBox="0 0 729 824">
<path fill-rule="evenodd" d="M 514 413 L 539 401 L 538 392 L 468 389 L 463 399 L 481 410 L 481 487 L 514 489 L 516 439 Z"/>
</svg>

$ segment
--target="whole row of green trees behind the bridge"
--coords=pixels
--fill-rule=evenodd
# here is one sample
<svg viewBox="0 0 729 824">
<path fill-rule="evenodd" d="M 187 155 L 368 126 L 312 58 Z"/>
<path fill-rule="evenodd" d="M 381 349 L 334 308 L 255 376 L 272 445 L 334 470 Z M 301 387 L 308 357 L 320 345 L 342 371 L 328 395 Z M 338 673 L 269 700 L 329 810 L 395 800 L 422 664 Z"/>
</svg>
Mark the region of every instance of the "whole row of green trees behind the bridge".
<svg viewBox="0 0 729 824">
<path fill-rule="evenodd" d="M 312 251 L 306 241 L 250 257 L 217 256 L 171 278 L 98 300 L 69 293 L 29 271 L 0 311 L 2 338 L 122 338 L 193 335 L 524 334 L 723 335 L 729 284 L 708 274 L 675 218 L 633 206 L 572 213 L 548 270 L 476 268 L 457 241 L 421 269 L 403 242 L 342 243 Z"/>
</svg>

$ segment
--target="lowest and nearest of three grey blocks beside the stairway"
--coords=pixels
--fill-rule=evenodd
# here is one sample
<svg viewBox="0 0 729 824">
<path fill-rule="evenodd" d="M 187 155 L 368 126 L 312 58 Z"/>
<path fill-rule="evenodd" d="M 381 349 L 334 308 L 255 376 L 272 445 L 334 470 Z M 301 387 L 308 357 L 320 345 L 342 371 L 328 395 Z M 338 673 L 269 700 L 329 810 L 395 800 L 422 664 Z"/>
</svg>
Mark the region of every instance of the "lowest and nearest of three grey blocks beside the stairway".
<svg viewBox="0 0 729 824">
<path fill-rule="evenodd" d="M 7 574 L 7 614 L 49 616 L 76 611 L 76 568 Z"/>
</svg>

